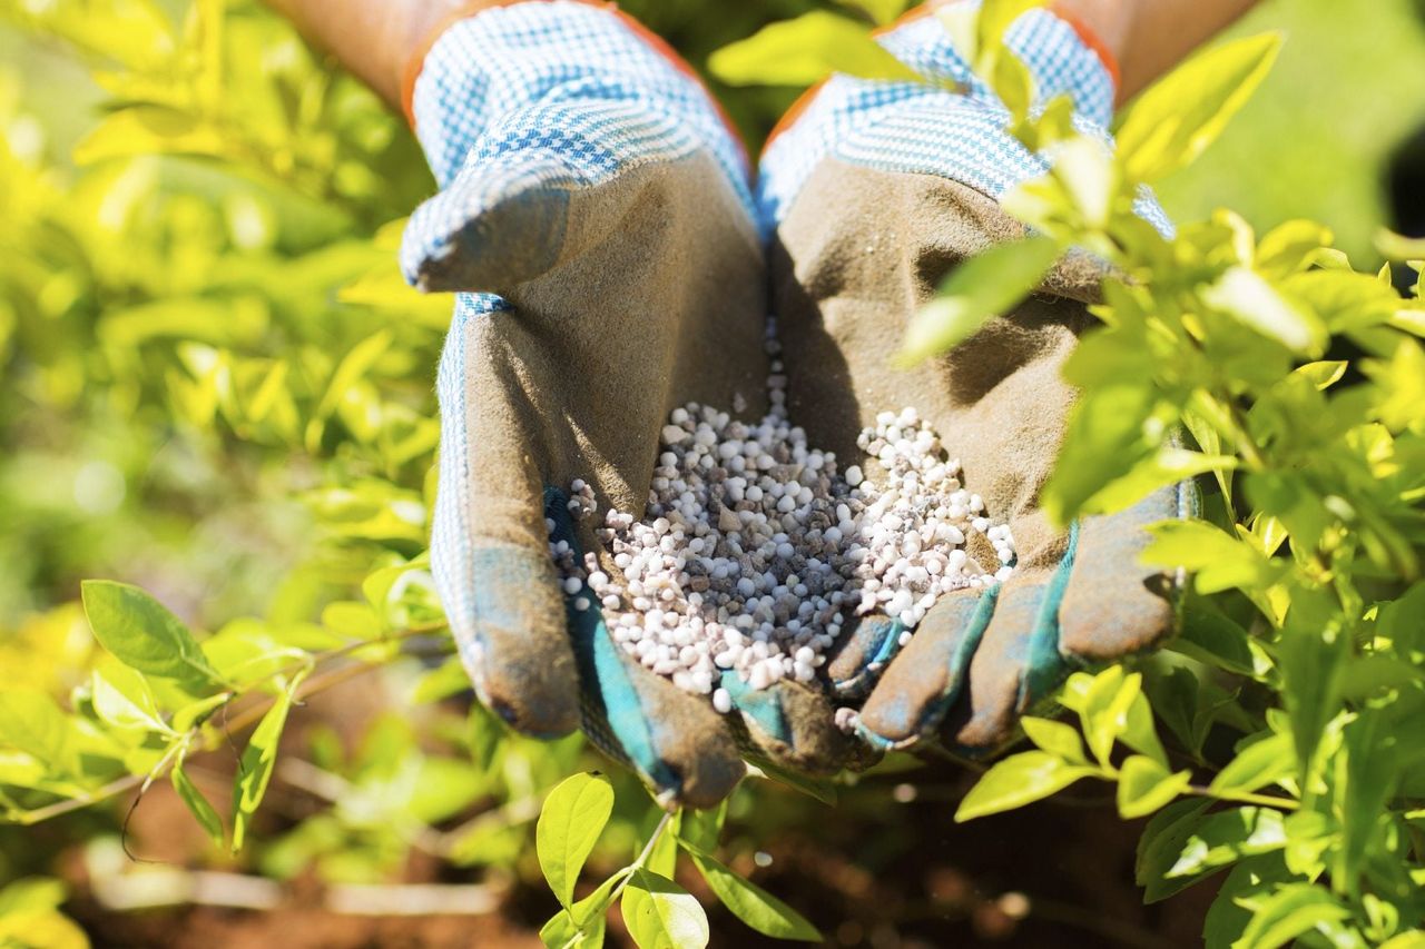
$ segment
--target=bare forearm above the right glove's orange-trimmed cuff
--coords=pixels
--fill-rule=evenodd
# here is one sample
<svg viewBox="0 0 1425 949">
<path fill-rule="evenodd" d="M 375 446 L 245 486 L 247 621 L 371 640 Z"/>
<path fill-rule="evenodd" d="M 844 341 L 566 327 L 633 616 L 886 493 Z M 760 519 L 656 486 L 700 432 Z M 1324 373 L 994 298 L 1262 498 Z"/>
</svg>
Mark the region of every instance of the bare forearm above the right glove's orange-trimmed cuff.
<svg viewBox="0 0 1425 949">
<path fill-rule="evenodd" d="M 1143 91 L 1258 0 L 1059 0 L 1117 58 L 1119 101 Z"/>
</svg>

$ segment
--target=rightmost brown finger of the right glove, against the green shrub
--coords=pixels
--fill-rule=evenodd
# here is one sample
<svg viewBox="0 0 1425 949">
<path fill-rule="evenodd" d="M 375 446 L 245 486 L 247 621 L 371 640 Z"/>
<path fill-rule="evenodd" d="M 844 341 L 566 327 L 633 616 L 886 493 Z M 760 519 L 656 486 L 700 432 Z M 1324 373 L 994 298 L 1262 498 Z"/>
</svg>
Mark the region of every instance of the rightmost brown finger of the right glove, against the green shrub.
<svg viewBox="0 0 1425 949">
<path fill-rule="evenodd" d="M 1183 482 L 1127 510 L 1084 519 L 1059 608 L 1064 658 L 1109 663 L 1151 648 L 1173 631 L 1180 579 L 1141 566 L 1139 556 L 1153 540 L 1144 527 L 1190 517 L 1196 509 L 1197 486 Z"/>
</svg>

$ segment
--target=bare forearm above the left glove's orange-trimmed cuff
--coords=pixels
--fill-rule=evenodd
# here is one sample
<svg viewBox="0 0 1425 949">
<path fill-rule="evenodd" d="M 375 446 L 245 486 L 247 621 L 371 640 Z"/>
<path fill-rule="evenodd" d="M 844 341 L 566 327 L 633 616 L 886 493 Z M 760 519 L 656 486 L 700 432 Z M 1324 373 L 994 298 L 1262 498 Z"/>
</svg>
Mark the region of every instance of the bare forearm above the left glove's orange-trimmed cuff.
<svg viewBox="0 0 1425 949">
<path fill-rule="evenodd" d="M 408 64 L 435 30 L 472 0 L 266 0 L 311 43 L 326 50 L 390 107 L 400 108 Z"/>
</svg>

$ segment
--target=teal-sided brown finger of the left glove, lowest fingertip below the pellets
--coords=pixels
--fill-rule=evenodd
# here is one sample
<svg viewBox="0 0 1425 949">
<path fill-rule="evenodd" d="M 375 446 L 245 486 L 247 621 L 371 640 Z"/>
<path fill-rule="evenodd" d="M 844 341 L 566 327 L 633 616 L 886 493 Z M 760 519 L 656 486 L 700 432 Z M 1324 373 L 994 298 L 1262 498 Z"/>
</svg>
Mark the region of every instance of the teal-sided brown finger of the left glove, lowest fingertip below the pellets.
<svg viewBox="0 0 1425 949">
<path fill-rule="evenodd" d="M 550 487 L 544 497 L 544 516 L 554 523 L 551 537 L 567 541 L 580 557 L 567 496 Z M 584 731 L 594 744 L 631 767 L 660 804 L 708 808 L 731 794 L 747 768 L 711 702 L 656 675 L 623 650 L 587 587 L 569 594 L 566 616 Z"/>
</svg>

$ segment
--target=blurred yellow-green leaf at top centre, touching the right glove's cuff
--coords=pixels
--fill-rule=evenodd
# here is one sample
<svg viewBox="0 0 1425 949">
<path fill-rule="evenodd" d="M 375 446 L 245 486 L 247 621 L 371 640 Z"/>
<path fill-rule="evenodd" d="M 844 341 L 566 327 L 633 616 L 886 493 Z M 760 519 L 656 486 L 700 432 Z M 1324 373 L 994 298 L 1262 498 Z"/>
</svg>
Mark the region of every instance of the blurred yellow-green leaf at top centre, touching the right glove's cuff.
<svg viewBox="0 0 1425 949">
<path fill-rule="evenodd" d="M 826 10 L 772 23 L 708 57 L 728 85 L 811 85 L 831 73 L 925 81 L 876 43 L 865 24 Z"/>
</svg>

